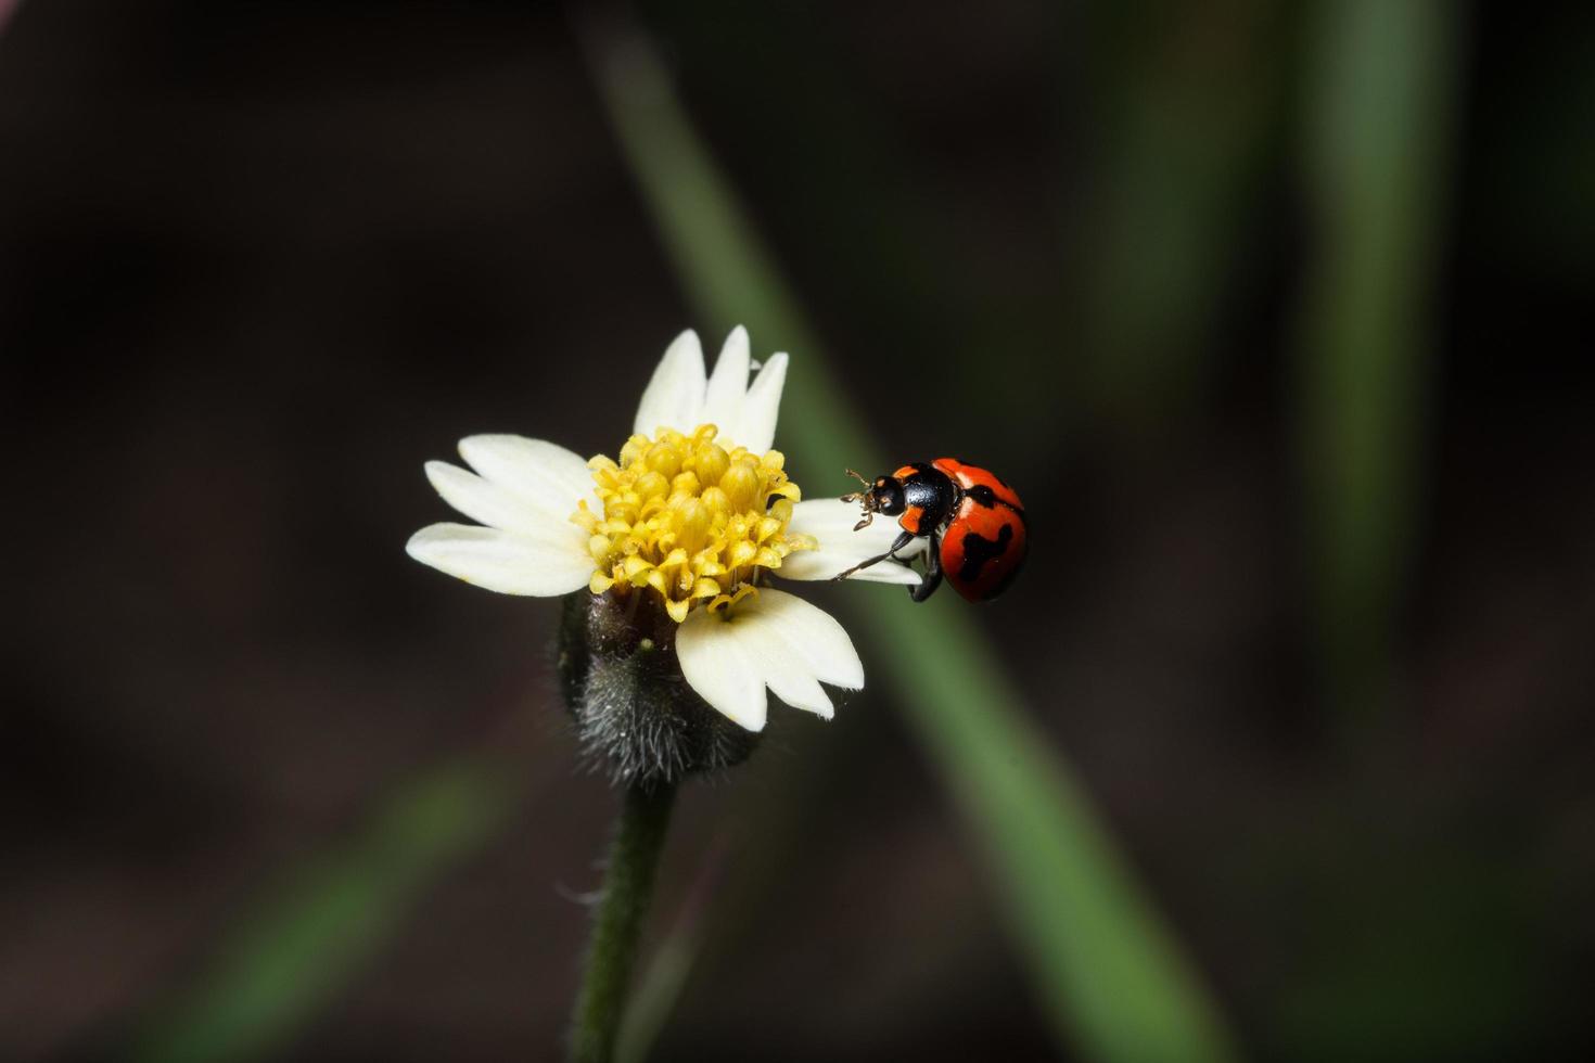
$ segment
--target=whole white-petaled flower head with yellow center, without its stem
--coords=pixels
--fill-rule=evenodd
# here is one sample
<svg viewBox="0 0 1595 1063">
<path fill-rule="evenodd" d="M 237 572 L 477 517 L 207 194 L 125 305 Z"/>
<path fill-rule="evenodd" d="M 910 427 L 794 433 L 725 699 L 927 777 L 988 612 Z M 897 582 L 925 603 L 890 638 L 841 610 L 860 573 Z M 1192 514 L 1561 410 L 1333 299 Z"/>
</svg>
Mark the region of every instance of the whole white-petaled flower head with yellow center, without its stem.
<svg viewBox="0 0 1595 1063">
<path fill-rule="evenodd" d="M 461 440 L 475 472 L 427 462 L 426 475 L 480 524 L 423 528 L 410 556 L 504 594 L 643 596 L 679 625 L 681 674 L 727 719 L 761 730 L 766 690 L 829 719 L 820 684 L 861 688 L 858 652 L 831 615 L 766 577 L 833 579 L 885 553 L 898 529 L 853 531 L 857 507 L 802 500 L 770 449 L 786 355 L 748 376 L 746 330 L 732 330 L 713 376 L 689 330 L 654 370 L 619 461 L 520 435 Z M 919 583 L 892 561 L 849 579 Z"/>
</svg>

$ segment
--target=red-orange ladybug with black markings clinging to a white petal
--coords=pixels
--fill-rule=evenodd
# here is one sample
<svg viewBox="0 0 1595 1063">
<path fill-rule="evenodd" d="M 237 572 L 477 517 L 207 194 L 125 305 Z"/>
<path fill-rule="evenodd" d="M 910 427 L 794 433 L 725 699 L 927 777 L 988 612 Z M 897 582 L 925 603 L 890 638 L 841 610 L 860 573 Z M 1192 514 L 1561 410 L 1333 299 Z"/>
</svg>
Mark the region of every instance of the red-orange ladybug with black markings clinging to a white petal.
<svg viewBox="0 0 1595 1063">
<path fill-rule="evenodd" d="M 885 559 L 896 561 L 916 539 L 928 539 L 925 579 L 909 588 L 920 602 L 941 586 L 941 577 L 968 601 L 997 598 L 1019 574 L 1026 555 L 1024 504 L 995 473 L 967 465 L 957 457 L 903 465 L 890 477 L 864 480 L 852 469 L 847 475 L 864 484 L 863 491 L 842 496 L 863 502 L 864 518 L 853 531 L 866 528 L 876 513 L 896 516 L 903 534 L 879 558 L 855 564 L 836 579 L 868 569 Z"/>
</svg>

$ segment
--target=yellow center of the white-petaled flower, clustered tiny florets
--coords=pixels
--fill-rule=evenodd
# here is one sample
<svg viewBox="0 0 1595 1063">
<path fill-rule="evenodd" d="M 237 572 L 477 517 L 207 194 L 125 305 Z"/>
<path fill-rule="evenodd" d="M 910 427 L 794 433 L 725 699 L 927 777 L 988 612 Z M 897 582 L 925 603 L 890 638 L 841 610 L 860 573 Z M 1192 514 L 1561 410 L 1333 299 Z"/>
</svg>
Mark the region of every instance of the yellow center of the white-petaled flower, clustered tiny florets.
<svg viewBox="0 0 1595 1063">
<path fill-rule="evenodd" d="M 593 594 L 651 586 L 681 623 L 694 604 L 731 606 L 754 593 L 761 569 L 817 547 L 786 531 L 793 502 L 802 499 L 782 469 L 786 457 L 753 454 L 718 435 L 713 424 L 692 435 L 662 429 L 627 440 L 619 464 L 603 454 L 587 462 L 603 513 L 582 502 L 571 520 L 590 535 Z"/>
</svg>

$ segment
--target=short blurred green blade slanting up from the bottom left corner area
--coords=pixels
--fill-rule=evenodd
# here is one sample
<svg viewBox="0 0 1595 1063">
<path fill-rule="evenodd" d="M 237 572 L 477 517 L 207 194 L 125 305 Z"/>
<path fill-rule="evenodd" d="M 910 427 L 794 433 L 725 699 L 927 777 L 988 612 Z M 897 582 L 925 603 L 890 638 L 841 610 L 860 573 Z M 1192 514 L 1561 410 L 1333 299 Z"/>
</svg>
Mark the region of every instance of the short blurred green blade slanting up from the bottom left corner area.
<svg viewBox="0 0 1595 1063">
<path fill-rule="evenodd" d="M 206 975 L 152 1015 L 132 1058 L 249 1060 L 282 1050 L 394 937 L 432 883 L 504 822 L 509 775 L 464 760 L 413 779 L 354 838 L 293 873 Z"/>
</svg>

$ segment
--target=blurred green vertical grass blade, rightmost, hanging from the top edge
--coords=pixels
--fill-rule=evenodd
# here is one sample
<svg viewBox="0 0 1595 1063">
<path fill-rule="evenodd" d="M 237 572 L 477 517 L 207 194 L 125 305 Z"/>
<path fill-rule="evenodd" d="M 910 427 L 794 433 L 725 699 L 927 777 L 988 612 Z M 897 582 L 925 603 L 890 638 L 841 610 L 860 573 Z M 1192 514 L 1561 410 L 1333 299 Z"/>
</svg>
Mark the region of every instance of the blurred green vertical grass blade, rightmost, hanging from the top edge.
<svg viewBox="0 0 1595 1063">
<path fill-rule="evenodd" d="M 1443 0 L 1345 0 L 1321 5 L 1309 35 L 1306 508 L 1325 687 L 1365 719 L 1386 696 L 1421 510 L 1456 18 Z"/>
</svg>

